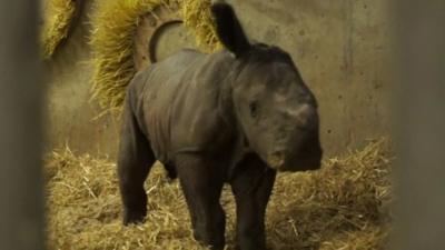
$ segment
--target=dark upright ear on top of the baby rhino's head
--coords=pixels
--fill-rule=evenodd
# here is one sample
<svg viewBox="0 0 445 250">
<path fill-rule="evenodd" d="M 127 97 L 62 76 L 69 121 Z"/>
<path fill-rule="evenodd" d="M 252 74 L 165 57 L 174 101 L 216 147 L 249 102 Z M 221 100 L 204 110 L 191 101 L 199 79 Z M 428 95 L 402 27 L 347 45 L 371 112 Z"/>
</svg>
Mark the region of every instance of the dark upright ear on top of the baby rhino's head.
<svg viewBox="0 0 445 250">
<path fill-rule="evenodd" d="M 215 18 L 217 36 L 226 49 L 236 57 L 249 50 L 250 43 L 231 6 L 224 1 L 214 1 L 211 13 Z"/>
</svg>

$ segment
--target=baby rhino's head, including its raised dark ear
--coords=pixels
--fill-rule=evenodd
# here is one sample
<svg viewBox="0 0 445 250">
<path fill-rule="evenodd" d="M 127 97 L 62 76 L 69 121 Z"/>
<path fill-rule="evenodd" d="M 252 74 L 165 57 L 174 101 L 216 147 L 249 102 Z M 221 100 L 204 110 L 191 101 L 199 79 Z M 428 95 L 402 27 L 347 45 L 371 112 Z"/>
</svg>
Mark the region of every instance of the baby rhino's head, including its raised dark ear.
<svg viewBox="0 0 445 250">
<path fill-rule="evenodd" d="M 231 82 L 235 113 L 248 147 L 279 171 L 320 167 L 317 102 L 290 56 L 251 44 L 230 6 L 212 4 L 217 33 L 236 57 Z"/>
</svg>

